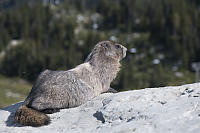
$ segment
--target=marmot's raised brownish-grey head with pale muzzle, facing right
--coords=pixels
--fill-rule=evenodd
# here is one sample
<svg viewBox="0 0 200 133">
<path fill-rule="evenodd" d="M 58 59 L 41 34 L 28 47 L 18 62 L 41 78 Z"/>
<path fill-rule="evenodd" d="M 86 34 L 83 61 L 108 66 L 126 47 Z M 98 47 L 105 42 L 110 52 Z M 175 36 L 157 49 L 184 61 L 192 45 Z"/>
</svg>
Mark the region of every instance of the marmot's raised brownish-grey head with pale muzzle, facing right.
<svg viewBox="0 0 200 133">
<path fill-rule="evenodd" d="M 96 58 L 107 58 L 120 61 L 126 56 L 127 48 L 119 43 L 112 41 L 102 41 L 97 43 L 92 52 L 87 57 L 86 61 Z"/>
</svg>

